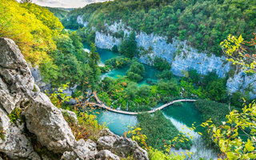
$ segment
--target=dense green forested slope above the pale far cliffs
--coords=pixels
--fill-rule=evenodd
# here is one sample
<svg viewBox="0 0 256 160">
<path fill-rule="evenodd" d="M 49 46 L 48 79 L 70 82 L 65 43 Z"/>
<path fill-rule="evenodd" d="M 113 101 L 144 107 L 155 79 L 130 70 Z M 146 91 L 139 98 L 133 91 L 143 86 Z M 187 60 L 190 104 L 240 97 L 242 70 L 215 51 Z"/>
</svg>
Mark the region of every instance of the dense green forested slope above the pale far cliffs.
<svg viewBox="0 0 256 160">
<path fill-rule="evenodd" d="M 186 39 L 216 55 L 228 34 L 250 39 L 256 30 L 256 1 L 248 0 L 115 0 L 72 10 L 63 25 L 78 29 L 78 15 L 97 30 L 122 20 L 134 30 L 167 36 L 169 42 Z"/>
</svg>

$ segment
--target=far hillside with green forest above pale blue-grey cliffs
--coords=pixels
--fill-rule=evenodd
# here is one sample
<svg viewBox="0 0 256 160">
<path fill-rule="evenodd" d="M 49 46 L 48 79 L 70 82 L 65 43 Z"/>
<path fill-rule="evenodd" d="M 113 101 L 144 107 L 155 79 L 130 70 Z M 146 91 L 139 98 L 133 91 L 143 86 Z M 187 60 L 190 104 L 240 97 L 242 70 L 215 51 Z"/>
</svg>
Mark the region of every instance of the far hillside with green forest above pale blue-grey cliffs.
<svg viewBox="0 0 256 160">
<path fill-rule="evenodd" d="M 178 76 L 186 77 L 190 70 L 202 76 L 215 71 L 228 78 L 225 86 L 231 94 L 242 91 L 255 98 L 256 76 L 226 62 L 219 45 L 229 34 L 253 38 L 255 15 L 254 1 L 120 0 L 72 10 L 62 24 L 80 27 L 82 40 L 99 48 L 118 50 L 150 66 L 169 63 Z"/>
</svg>

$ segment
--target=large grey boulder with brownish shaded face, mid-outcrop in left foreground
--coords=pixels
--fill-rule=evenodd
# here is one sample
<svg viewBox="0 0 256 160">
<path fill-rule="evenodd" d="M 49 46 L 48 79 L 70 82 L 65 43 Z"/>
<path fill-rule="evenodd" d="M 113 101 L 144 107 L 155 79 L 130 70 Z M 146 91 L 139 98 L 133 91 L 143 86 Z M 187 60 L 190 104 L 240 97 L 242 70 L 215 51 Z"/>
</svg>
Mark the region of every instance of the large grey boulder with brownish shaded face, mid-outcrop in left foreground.
<svg viewBox="0 0 256 160">
<path fill-rule="evenodd" d="M 75 138 L 62 112 L 54 106 L 46 94 L 38 94 L 25 112 L 26 126 L 37 135 L 38 142 L 54 153 L 72 150 Z"/>
</svg>

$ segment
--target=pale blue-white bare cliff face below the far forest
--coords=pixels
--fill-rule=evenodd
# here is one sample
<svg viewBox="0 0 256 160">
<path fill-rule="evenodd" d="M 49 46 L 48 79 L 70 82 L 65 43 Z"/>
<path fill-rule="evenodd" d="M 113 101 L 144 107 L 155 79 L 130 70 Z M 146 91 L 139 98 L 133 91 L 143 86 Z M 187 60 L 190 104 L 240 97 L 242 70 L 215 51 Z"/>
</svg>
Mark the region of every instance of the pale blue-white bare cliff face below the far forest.
<svg viewBox="0 0 256 160">
<path fill-rule="evenodd" d="M 114 22 L 112 25 L 105 24 L 106 32 L 96 31 L 95 45 L 102 49 L 111 50 L 114 45 L 118 46 L 122 42 L 122 38 L 115 38 L 110 33 L 117 33 L 123 30 L 125 35 L 129 35 L 132 29 L 120 22 Z M 178 76 L 183 76 L 183 71 L 190 69 L 197 70 L 199 74 L 205 75 L 208 72 L 216 70 L 220 78 L 226 77 L 230 71 L 230 63 L 226 62 L 225 57 L 216 57 L 213 54 L 200 53 L 198 50 L 187 45 L 186 41 L 181 42 L 173 38 L 172 43 L 168 43 L 165 37 L 156 34 L 146 34 L 143 32 L 136 34 L 136 42 L 138 48 L 143 50 L 152 49 L 149 54 L 140 56 L 140 61 L 152 65 L 154 57 L 165 58 L 171 64 L 171 70 Z M 233 78 L 229 78 L 227 89 L 230 93 L 250 89 L 251 98 L 256 98 L 256 77 L 242 76 L 242 72 L 235 74 Z"/>
</svg>

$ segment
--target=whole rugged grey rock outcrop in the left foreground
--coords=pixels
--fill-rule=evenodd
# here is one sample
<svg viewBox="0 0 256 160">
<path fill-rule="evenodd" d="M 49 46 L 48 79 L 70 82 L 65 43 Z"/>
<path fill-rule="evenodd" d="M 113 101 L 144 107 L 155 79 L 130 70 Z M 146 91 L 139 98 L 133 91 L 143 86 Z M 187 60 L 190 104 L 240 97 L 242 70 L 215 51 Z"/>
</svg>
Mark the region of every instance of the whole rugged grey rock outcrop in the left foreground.
<svg viewBox="0 0 256 160">
<path fill-rule="evenodd" d="M 34 141 L 61 159 L 120 159 L 129 155 L 147 160 L 146 150 L 136 142 L 102 130 L 98 142 L 76 141 L 63 118 L 63 110 L 42 94 L 18 46 L 8 38 L 0 38 L 0 152 L 12 159 L 52 159 L 34 149 Z M 16 123 L 7 116 L 15 108 L 22 110 Z M 76 115 L 68 112 L 70 116 Z M 76 117 L 74 119 L 77 119 Z M 31 138 L 34 135 L 36 139 Z"/>
</svg>

